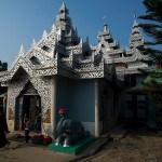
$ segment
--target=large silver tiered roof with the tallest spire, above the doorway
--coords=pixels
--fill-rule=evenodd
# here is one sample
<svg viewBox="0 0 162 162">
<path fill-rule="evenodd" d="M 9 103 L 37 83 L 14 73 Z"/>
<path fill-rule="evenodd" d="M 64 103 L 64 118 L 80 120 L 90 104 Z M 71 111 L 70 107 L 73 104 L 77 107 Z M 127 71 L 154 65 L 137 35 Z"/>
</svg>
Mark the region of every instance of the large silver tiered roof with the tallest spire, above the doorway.
<svg viewBox="0 0 162 162">
<path fill-rule="evenodd" d="M 19 68 L 30 77 L 59 75 L 73 79 L 111 78 L 111 69 L 104 63 L 102 53 L 92 51 L 89 39 L 83 42 L 78 37 L 63 3 L 50 33 L 44 31 L 38 43 L 33 40 L 27 53 L 22 46 L 11 69 L 0 73 L 0 81 L 13 80 Z"/>
</svg>

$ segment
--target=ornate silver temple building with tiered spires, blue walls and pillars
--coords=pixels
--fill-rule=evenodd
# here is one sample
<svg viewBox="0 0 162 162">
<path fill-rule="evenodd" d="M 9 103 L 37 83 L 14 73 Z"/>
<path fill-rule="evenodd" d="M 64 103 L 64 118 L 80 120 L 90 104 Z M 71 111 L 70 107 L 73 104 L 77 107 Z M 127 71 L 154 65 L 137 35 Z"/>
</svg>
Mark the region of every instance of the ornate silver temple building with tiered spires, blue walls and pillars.
<svg viewBox="0 0 162 162">
<path fill-rule="evenodd" d="M 63 3 L 51 31 L 44 31 L 39 42 L 33 40 L 28 52 L 21 46 L 11 68 L 0 72 L 1 86 L 8 86 L 9 129 L 23 130 L 25 114 L 35 127 L 41 114 L 41 132 L 53 136 L 57 111 L 65 108 L 67 118 L 98 137 L 126 107 L 124 83 L 140 78 L 138 68 L 149 69 L 141 60 L 150 58 L 137 50 L 143 44 L 136 21 L 126 50 L 113 41 L 106 23 L 96 46 L 89 39 L 83 42 Z"/>
</svg>

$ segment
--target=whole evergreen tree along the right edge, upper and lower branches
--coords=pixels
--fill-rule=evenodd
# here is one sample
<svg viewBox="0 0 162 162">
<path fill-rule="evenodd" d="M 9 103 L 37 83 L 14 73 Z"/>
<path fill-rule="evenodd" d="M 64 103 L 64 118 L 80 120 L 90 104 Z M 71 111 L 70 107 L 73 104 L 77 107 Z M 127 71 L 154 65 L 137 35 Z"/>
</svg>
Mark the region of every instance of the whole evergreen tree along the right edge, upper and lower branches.
<svg viewBox="0 0 162 162">
<path fill-rule="evenodd" d="M 139 24 L 139 27 L 148 35 L 149 41 L 145 41 L 145 46 L 139 46 L 139 50 L 150 55 L 158 68 L 149 72 L 144 84 L 151 90 L 149 95 L 162 107 L 162 0 L 144 0 L 143 4 L 146 14 L 138 18 L 145 23 Z"/>
</svg>

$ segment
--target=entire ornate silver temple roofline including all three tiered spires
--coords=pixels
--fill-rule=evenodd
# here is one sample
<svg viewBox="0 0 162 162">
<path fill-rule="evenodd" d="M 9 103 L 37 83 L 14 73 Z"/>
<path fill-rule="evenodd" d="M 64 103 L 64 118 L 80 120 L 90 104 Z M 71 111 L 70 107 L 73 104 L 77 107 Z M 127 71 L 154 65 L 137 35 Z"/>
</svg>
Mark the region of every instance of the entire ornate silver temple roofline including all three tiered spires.
<svg viewBox="0 0 162 162">
<path fill-rule="evenodd" d="M 113 40 L 107 24 L 98 33 L 98 44 L 90 46 L 72 27 L 69 12 L 63 2 L 50 33 L 43 32 L 37 43 L 32 41 L 30 50 L 25 53 L 23 46 L 9 71 L 0 73 L 0 81 L 14 79 L 16 71 L 24 68 L 30 77 L 60 75 L 75 79 L 111 78 L 112 65 L 119 75 L 139 72 L 137 68 L 148 68 L 141 60 L 150 59 L 143 55 L 137 46 L 144 45 L 141 32 L 134 19 L 130 49 L 120 48 Z"/>
</svg>

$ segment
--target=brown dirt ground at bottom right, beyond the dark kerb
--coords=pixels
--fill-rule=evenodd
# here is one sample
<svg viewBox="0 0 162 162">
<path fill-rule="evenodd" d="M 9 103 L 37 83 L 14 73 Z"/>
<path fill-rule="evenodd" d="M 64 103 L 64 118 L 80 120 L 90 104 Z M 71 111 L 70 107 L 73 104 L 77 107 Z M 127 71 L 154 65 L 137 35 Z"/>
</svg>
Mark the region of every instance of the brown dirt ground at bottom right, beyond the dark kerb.
<svg viewBox="0 0 162 162">
<path fill-rule="evenodd" d="M 162 132 L 131 130 L 120 140 L 110 140 L 97 154 L 80 162 L 162 162 Z"/>
</svg>

